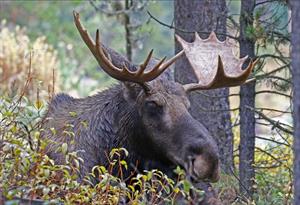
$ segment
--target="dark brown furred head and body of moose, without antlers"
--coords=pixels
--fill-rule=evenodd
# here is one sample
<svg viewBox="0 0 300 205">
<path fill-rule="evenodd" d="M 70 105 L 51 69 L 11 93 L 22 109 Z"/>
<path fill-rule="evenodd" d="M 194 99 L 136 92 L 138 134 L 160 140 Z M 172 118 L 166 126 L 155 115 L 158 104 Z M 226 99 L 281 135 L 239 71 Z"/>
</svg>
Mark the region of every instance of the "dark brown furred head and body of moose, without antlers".
<svg viewBox="0 0 300 205">
<path fill-rule="evenodd" d="M 118 147 L 129 151 L 129 162 L 132 165 L 138 162 L 140 170 L 185 167 L 189 157 L 200 156 L 203 167 L 194 171 L 199 178 L 215 179 L 218 172 L 216 144 L 188 112 L 189 101 L 182 86 L 159 78 L 151 82 L 151 87 L 151 95 L 144 94 L 132 83 L 82 99 L 57 95 L 44 121 L 48 130 L 45 136 L 53 141 L 48 146 L 49 155 L 62 163 L 62 155 L 55 150 L 67 142 L 69 151 L 79 150 L 79 156 L 84 159 L 82 175 L 95 165 L 107 165 L 105 152 Z M 52 127 L 55 135 L 49 131 Z M 70 143 L 72 137 L 65 130 L 75 133 L 74 144 Z"/>
</svg>

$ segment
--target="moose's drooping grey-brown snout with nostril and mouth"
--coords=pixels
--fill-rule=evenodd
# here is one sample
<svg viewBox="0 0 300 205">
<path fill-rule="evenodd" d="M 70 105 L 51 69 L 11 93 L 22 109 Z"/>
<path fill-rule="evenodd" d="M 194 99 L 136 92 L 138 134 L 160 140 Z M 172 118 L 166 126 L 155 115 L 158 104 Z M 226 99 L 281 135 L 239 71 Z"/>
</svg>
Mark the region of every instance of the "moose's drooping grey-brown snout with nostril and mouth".
<svg viewBox="0 0 300 205">
<path fill-rule="evenodd" d="M 180 127 L 186 127 L 181 147 L 181 164 L 193 179 L 216 182 L 220 178 L 219 150 L 209 131 L 191 116 L 185 116 Z M 179 160 L 180 161 L 180 160 Z"/>
</svg>

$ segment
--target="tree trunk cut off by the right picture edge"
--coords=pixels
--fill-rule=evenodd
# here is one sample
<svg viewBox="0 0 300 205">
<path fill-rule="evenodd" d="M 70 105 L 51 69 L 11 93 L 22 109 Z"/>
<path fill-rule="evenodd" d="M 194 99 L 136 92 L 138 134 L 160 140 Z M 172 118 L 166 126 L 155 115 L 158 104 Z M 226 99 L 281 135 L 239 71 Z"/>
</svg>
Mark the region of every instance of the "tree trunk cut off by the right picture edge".
<svg viewBox="0 0 300 205">
<path fill-rule="evenodd" d="M 294 118 L 294 204 L 300 204 L 300 1 L 292 5 L 292 74 Z"/>
</svg>

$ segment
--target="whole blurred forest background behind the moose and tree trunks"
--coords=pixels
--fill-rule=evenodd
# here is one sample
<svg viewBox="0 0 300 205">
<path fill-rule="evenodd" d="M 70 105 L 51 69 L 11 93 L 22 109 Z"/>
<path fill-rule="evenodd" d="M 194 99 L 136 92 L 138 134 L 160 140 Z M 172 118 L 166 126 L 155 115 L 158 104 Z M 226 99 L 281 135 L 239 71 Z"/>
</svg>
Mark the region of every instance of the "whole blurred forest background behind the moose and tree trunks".
<svg viewBox="0 0 300 205">
<path fill-rule="evenodd" d="M 41 115 L 32 109 L 39 110 L 40 101 L 47 101 L 53 93 L 85 97 L 116 83 L 99 69 L 81 40 L 73 23 L 73 10 L 80 13 L 92 35 L 99 28 L 105 45 L 135 63 L 143 61 L 152 48 L 158 58 L 174 55 L 174 2 L 133 2 L 128 6 L 125 1 L 0 1 L 0 94 L 5 96 L 1 109 L 11 102 L 6 98 L 22 92 L 30 59 L 34 75 L 27 96 L 38 103 L 33 103 L 32 108 L 27 106 L 33 113 L 28 122 Z M 238 36 L 241 2 L 228 0 L 226 4 L 227 34 Z M 130 29 L 131 54 L 126 52 L 126 29 Z M 290 32 L 290 10 L 286 1 L 256 1 L 253 25 L 246 29 L 248 37 L 255 42 L 255 58 L 259 59 L 251 77 L 256 79 L 255 106 L 250 108 L 255 113 L 254 196 L 244 197 L 243 191 L 238 191 L 241 187 L 238 170 L 240 102 L 239 88 L 234 87 L 229 95 L 234 167 L 232 173 L 224 174 L 215 185 L 223 198 L 234 198 L 230 203 L 291 204 Z M 239 54 L 239 47 L 235 53 Z"/>
</svg>

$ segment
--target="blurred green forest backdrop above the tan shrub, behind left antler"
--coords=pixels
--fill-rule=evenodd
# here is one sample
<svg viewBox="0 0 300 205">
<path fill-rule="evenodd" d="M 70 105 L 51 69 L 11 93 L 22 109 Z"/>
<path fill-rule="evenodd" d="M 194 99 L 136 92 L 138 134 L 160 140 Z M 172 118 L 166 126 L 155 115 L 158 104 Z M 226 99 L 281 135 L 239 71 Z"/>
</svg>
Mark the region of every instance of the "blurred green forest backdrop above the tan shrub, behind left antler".
<svg viewBox="0 0 300 205">
<path fill-rule="evenodd" d="M 32 40 L 44 36 L 57 53 L 55 69 L 61 78 L 57 82 L 60 89 L 74 96 L 87 96 L 112 84 L 112 79 L 97 69 L 98 64 L 73 24 L 72 12 L 80 12 L 90 32 L 99 28 L 105 44 L 126 55 L 124 17 L 122 12 L 115 12 L 124 10 L 123 7 L 122 1 L 96 1 L 94 4 L 89 1 L 2 1 L 0 17 L 2 27 L 24 28 Z M 140 63 L 152 48 L 157 57 L 174 53 L 173 31 L 150 21 L 147 10 L 162 20 L 171 21 L 173 2 L 141 2 L 129 12 L 130 26 L 134 28 L 131 29 L 132 60 L 136 63 Z"/>
</svg>

